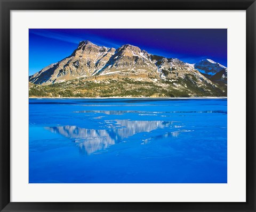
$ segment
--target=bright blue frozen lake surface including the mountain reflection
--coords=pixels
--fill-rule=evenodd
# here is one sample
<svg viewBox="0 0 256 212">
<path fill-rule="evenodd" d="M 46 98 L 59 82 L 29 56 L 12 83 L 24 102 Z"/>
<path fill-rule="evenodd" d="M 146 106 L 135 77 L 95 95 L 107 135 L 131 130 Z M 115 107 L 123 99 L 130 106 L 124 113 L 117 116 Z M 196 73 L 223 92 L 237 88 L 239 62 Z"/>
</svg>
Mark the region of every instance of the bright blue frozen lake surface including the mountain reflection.
<svg viewBox="0 0 256 212">
<path fill-rule="evenodd" d="M 227 99 L 29 99 L 29 183 L 227 183 Z"/>
</svg>

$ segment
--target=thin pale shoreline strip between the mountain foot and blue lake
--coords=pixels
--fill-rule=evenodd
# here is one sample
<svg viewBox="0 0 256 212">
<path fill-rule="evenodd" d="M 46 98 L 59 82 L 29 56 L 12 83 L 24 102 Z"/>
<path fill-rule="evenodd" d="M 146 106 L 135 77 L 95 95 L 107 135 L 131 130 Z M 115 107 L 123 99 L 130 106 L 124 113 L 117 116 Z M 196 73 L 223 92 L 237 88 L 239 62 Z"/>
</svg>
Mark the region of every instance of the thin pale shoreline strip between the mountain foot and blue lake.
<svg viewBox="0 0 256 212">
<path fill-rule="evenodd" d="M 29 99 L 227 99 L 228 97 L 29 97 Z"/>
</svg>

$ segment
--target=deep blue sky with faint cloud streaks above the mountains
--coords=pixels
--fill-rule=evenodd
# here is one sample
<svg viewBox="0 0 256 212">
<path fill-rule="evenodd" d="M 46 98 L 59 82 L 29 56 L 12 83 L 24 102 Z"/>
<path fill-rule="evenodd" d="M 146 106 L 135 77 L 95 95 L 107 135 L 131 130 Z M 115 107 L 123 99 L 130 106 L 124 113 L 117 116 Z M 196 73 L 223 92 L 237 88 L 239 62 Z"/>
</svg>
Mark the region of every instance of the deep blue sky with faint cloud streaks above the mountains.
<svg viewBox="0 0 256 212">
<path fill-rule="evenodd" d="M 205 58 L 227 66 L 227 29 L 29 29 L 29 75 L 69 56 L 79 41 L 148 53 L 188 63 Z"/>
</svg>

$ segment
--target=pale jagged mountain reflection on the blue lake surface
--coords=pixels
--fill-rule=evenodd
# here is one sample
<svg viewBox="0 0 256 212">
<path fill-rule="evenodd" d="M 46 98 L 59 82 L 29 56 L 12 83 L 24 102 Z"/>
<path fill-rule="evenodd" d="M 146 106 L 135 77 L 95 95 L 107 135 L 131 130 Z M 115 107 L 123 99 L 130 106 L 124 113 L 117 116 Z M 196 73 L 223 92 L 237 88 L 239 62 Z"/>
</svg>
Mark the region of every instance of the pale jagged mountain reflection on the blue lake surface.
<svg viewBox="0 0 256 212">
<path fill-rule="evenodd" d="M 94 130 L 79 128 L 78 126 L 53 126 L 45 129 L 59 133 L 79 143 L 81 151 L 90 155 L 93 152 L 104 150 L 110 145 L 124 141 L 140 132 L 151 132 L 161 128 L 177 128 L 173 122 L 166 121 L 131 121 L 114 120 L 105 122 L 108 129 Z M 147 143 L 147 142 L 145 142 Z"/>
</svg>

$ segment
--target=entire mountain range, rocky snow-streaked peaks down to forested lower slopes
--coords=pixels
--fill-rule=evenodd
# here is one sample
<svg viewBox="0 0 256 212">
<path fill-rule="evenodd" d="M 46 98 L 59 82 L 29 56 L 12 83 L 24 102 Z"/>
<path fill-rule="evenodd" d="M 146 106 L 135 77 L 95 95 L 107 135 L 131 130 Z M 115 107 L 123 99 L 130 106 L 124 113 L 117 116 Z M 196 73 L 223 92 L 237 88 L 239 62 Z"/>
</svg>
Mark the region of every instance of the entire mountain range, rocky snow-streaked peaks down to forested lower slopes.
<svg viewBox="0 0 256 212">
<path fill-rule="evenodd" d="M 226 96 L 227 68 L 212 60 L 188 64 L 137 46 L 117 49 L 81 41 L 63 60 L 31 75 L 30 96 Z"/>
</svg>

